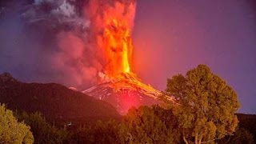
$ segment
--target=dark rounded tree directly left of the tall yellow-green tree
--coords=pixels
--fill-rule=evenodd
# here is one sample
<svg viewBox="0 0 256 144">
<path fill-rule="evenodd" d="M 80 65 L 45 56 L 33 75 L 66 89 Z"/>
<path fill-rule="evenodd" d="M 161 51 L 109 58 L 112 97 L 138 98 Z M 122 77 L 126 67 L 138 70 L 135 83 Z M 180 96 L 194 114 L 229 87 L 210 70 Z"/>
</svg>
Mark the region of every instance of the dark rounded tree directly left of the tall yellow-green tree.
<svg viewBox="0 0 256 144">
<path fill-rule="evenodd" d="M 122 125 L 126 127 L 126 142 L 129 143 L 174 143 L 179 141 L 175 119 L 171 110 L 160 106 L 132 108 Z"/>
</svg>

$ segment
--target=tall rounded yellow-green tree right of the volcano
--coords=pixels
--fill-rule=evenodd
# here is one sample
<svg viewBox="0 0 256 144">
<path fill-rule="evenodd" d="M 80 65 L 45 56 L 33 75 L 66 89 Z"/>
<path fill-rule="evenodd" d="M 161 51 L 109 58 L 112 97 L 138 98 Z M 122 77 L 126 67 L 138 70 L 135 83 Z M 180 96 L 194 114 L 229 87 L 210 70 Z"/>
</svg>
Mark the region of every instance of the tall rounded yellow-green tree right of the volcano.
<svg viewBox="0 0 256 144">
<path fill-rule="evenodd" d="M 168 79 L 166 93 L 180 104 L 173 114 L 186 143 L 212 142 L 232 134 L 238 125 L 237 94 L 205 65 Z"/>
</svg>

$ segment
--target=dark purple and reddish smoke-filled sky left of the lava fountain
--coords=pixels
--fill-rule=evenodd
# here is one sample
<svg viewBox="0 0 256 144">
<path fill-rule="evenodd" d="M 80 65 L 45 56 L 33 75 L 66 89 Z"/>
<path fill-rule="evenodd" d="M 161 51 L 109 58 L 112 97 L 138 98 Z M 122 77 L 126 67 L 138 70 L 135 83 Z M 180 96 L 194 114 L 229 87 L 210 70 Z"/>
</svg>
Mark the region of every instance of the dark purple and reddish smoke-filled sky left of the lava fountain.
<svg viewBox="0 0 256 144">
<path fill-rule="evenodd" d="M 98 46 L 108 9 L 129 14 L 132 1 L 34 0 L 0 2 L 0 73 L 25 82 L 86 88 L 98 82 L 104 57 Z M 94 10 L 94 11 L 92 11 Z M 131 21 L 133 18 L 131 18 Z"/>
</svg>

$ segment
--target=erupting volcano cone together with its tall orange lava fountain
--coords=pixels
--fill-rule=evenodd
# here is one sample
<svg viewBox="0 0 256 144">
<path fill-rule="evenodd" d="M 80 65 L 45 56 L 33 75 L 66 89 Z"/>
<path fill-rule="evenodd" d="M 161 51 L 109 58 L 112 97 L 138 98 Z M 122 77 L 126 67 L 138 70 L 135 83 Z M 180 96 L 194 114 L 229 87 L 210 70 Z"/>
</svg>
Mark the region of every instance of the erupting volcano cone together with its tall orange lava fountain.
<svg viewBox="0 0 256 144">
<path fill-rule="evenodd" d="M 91 5 L 95 6 L 94 3 Z M 102 3 L 97 6 L 102 6 Z M 160 103 L 162 93 L 142 83 L 132 69 L 134 47 L 131 31 L 135 2 L 114 1 L 113 6 L 102 7 L 104 12 L 92 17 L 91 22 L 97 23 L 95 29 L 101 33 L 97 42 L 106 65 L 103 72 L 98 74 L 98 85 L 83 93 L 109 102 L 120 114 L 126 114 L 132 106 Z"/>
</svg>

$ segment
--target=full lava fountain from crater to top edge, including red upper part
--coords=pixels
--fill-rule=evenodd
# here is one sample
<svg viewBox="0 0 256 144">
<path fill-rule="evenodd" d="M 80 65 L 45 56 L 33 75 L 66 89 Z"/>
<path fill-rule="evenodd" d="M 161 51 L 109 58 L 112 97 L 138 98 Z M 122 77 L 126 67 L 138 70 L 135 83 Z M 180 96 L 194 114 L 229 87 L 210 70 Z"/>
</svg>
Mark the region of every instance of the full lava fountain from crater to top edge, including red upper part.
<svg viewBox="0 0 256 144">
<path fill-rule="evenodd" d="M 102 55 L 103 73 L 108 77 L 132 73 L 131 32 L 136 3 L 134 0 L 90 2 L 90 21 Z M 95 16 L 96 15 L 96 16 Z"/>
</svg>

